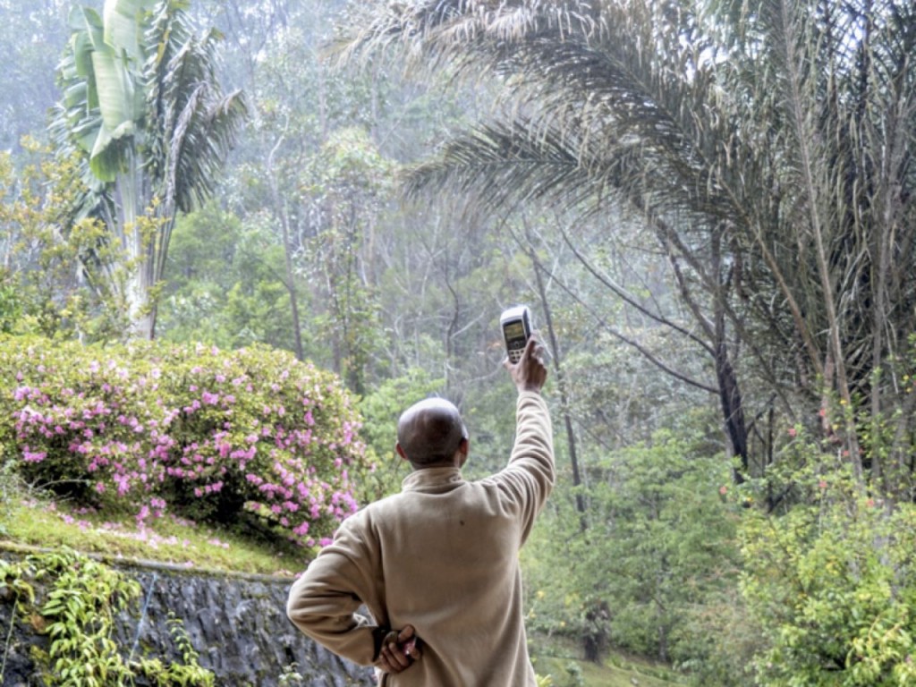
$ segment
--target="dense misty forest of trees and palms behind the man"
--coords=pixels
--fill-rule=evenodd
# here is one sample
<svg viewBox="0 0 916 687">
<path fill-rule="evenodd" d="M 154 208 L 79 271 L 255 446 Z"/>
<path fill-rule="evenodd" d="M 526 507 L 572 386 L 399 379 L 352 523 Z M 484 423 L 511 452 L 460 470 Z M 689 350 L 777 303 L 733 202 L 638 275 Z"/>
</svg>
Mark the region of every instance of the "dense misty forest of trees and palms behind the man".
<svg viewBox="0 0 916 687">
<path fill-rule="evenodd" d="M 0 16 L 7 341 L 317 365 L 365 502 L 429 393 L 469 476 L 503 463 L 526 302 L 562 474 L 523 552 L 535 638 L 703 685 L 916 684 L 911 3 Z"/>
</svg>

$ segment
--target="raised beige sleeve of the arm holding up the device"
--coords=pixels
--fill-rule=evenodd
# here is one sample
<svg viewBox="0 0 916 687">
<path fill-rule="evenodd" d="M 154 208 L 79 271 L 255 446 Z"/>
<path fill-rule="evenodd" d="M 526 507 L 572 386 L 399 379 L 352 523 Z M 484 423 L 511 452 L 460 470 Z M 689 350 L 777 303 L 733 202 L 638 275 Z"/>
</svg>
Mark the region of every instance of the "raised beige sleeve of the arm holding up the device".
<svg viewBox="0 0 916 687">
<path fill-rule="evenodd" d="M 507 467 L 496 479 L 517 501 L 524 542 L 556 480 L 551 414 L 539 393 L 518 394 L 515 444 Z"/>
</svg>

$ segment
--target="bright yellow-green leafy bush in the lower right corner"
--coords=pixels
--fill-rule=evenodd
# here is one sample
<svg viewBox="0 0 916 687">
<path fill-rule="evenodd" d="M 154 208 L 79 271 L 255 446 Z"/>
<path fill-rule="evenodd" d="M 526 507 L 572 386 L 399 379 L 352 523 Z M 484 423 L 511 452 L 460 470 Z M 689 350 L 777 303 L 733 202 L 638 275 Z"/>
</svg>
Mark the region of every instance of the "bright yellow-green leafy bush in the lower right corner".
<svg viewBox="0 0 916 687">
<path fill-rule="evenodd" d="M 916 506 L 872 496 L 810 447 L 780 481 L 809 496 L 748 512 L 742 591 L 765 647 L 764 685 L 916 684 Z"/>
</svg>

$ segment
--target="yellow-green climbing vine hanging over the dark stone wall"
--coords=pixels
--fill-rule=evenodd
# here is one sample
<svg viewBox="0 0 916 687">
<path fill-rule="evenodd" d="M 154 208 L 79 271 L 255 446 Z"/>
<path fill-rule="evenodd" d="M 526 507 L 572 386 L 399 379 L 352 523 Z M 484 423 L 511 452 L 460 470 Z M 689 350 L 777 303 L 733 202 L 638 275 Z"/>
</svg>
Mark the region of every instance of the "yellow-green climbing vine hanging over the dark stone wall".
<svg viewBox="0 0 916 687">
<path fill-rule="evenodd" d="M 46 590 L 43 601 L 37 588 Z M 156 687 L 213 687 L 213 673 L 198 664 L 197 651 L 174 616 L 169 617 L 169 632 L 180 661 L 125 658 L 114 639 L 114 621 L 139 595 L 135 580 L 66 548 L 22 562 L 0 561 L 0 601 L 13 605 L 4 628 L 0 682 L 19 620 L 49 638 L 47 650 L 32 649 L 48 687 L 132 687 L 140 677 Z"/>
</svg>

